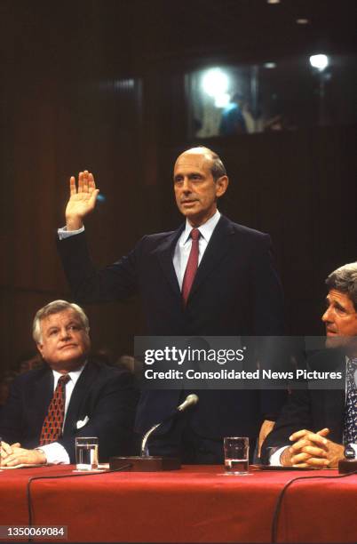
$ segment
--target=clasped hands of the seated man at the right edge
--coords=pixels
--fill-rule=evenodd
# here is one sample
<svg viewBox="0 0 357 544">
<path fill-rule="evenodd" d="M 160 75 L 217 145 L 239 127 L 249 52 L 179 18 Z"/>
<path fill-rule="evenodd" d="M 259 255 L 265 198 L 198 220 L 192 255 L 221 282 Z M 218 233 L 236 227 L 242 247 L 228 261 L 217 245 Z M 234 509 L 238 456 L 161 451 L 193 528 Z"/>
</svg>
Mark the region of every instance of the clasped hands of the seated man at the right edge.
<svg viewBox="0 0 357 544">
<path fill-rule="evenodd" d="M 328 435 L 329 428 L 322 428 L 317 433 L 303 429 L 291 435 L 294 444 L 282 452 L 282 466 L 337 468 L 338 461 L 345 457 L 345 448 L 326 438 Z"/>
</svg>

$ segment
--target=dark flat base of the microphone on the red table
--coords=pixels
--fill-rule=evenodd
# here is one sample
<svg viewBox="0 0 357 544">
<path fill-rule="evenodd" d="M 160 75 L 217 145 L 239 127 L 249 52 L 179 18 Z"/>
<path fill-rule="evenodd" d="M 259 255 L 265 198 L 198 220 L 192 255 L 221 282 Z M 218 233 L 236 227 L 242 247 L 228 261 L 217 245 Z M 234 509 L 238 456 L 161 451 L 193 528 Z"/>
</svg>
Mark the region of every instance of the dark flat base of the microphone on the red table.
<svg viewBox="0 0 357 544">
<path fill-rule="evenodd" d="M 109 459 L 110 470 L 124 468 L 123 472 L 162 472 L 163 470 L 178 470 L 181 468 L 181 460 L 177 457 L 158 457 L 147 455 L 146 457 L 111 457 Z"/>
</svg>

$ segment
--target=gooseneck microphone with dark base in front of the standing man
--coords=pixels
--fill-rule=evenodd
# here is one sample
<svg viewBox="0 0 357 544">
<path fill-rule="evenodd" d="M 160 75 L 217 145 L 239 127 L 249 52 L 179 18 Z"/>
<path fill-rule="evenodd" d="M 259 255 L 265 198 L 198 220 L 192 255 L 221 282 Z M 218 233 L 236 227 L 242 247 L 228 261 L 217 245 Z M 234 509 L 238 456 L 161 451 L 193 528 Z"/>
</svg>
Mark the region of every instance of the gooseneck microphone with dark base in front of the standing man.
<svg viewBox="0 0 357 544">
<path fill-rule="evenodd" d="M 158 457 L 147 454 L 147 440 L 154 433 L 156 428 L 159 428 L 163 423 L 170 421 L 178 415 L 185 412 L 190 406 L 198 403 L 198 396 L 192 393 L 187 395 L 183 403 L 178 404 L 174 412 L 171 412 L 160 423 L 156 423 L 152 428 L 149 428 L 143 436 L 141 442 L 140 455 L 135 457 L 111 457 L 109 459 L 109 467 L 111 470 L 129 470 L 132 472 L 159 472 L 161 470 L 177 470 L 181 468 L 181 460 L 176 457 Z"/>
</svg>

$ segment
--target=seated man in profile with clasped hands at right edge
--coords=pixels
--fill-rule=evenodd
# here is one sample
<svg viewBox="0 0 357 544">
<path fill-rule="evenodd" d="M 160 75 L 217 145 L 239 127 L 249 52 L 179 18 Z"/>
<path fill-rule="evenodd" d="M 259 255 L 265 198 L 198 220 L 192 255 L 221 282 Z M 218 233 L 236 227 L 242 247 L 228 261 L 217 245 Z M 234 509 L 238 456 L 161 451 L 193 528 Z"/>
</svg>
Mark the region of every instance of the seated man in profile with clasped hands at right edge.
<svg viewBox="0 0 357 544">
<path fill-rule="evenodd" d="M 312 357 L 310 367 L 341 372 L 345 388 L 292 391 L 263 444 L 265 462 L 274 465 L 336 468 L 346 447 L 357 454 L 357 262 L 337 268 L 326 284 L 327 349 Z"/>
</svg>

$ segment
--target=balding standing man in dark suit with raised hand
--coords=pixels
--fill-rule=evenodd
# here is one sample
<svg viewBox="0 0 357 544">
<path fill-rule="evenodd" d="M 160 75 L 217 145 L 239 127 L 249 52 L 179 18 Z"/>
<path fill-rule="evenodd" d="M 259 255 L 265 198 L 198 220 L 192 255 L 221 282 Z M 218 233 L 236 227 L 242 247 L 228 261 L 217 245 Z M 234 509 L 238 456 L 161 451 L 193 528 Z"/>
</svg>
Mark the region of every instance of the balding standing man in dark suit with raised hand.
<svg viewBox="0 0 357 544">
<path fill-rule="evenodd" d="M 173 172 L 176 203 L 186 221 L 173 232 L 144 236 L 127 256 L 97 271 L 83 219 L 99 189 L 90 172 L 80 172 L 77 188 L 72 177 L 59 253 L 75 299 L 124 300 L 139 292 L 147 334 L 155 336 L 282 334 L 282 286 L 270 236 L 218 212 L 227 186 L 226 168 L 216 153 L 188 149 Z M 184 396 L 180 390 L 142 392 L 137 431 L 143 434 L 163 420 Z M 153 438 L 152 454 L 221 462 L 223 436 L 249 436 L 254 451 L 259 428 L 263 422 L 273 424 L 282 403 L 279 391 L 202 390 L 199 397 L 184 418 L 163 426 Z"/>
</svg>

